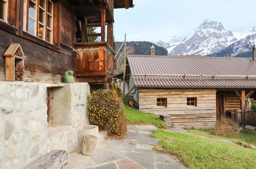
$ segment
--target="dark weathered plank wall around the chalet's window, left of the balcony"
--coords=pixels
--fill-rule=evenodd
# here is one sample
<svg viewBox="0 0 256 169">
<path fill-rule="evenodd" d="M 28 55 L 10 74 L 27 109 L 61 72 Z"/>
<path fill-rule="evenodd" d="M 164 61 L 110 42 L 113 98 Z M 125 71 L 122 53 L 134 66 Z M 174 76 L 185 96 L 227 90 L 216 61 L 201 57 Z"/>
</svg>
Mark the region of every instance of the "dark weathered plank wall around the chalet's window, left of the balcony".
<svg viewBox="0 0 256 169">
<path fill-rule="evenodd" d="M 64 1 L 54 3 L 53 44 L 49 44 L 23 31 L 23 23 L 16 17 L 23 17 L 23 12 L 19 13 L 23 3 L 16 2 L 19 1 L 10 4 L 13 7 L 10 7 L 8 23 L 0 20 L 0 80 L 5 80 L 3 54 L 10 44 L 18 43 L 27 56 L 24 81 L 62 82 L 62 75 L 68 70 L 74 70 L 75 14 L 72 8 Z"/>
</svg>

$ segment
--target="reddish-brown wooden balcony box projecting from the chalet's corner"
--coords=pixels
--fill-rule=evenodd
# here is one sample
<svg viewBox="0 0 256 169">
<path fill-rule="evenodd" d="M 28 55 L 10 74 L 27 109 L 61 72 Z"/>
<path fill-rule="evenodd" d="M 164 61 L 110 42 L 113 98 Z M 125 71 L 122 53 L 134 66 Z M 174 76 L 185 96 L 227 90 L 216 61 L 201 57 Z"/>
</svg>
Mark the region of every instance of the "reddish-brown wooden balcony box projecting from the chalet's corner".
<svg viewBox="0 0 256 169">
<path fill-rule="evenodd" d="M 75 43 L 75 49 L 75 76 L 78 82 L 112 82 L 115 51 L 108 43 Z"/>
</svg>

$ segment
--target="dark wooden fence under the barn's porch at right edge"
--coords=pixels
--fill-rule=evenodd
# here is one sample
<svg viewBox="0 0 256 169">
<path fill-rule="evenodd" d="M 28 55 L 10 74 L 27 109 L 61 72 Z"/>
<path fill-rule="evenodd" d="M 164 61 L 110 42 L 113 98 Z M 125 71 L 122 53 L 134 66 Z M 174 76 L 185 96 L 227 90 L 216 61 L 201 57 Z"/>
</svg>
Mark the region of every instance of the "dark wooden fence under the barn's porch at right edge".
<svg viewBox="0 0 256 169">
<path fill-rule="evenodd" d="M 242 110 L 240 109 L 235 109 L 234 110 L 234 120 L 242 123 Z M 256 125 L 256 113 L 252 113 L 252 112 L 245 112 L 245 124 L 248 125 Z"/>
</svg>

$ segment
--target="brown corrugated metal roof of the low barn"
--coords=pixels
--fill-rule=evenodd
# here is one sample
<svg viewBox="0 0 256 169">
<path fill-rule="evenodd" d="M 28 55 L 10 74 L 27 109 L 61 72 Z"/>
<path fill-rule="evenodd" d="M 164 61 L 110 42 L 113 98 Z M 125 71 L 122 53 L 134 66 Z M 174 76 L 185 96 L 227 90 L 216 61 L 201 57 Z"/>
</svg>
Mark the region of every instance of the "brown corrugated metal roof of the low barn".
<svg viewBox="0 0 256 169">
<path fill-rule="evenodd" d="M 230 57 L 128 55 L 131 74 L 252 75 L 256 60 Z M 136 87 L 256 88 L 256 78 L 133 76 Z"/>
</svg>

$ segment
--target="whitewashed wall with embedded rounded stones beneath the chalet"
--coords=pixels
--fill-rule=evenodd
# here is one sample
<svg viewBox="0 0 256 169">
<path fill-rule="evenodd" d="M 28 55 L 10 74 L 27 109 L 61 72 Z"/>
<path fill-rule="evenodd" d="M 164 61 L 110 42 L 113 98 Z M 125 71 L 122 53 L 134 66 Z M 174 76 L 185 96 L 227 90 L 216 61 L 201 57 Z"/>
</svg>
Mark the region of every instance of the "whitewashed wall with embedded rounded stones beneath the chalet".
<svg viewBox="0 0 256 169">
<path fill-rule="evenodd" d="M 46 90 L 44 83 L 0 81 L 0 168 L 24 168 L 51 150 L 77 147 L 77 128 L 87 123 L 88 83 L 54 88 L 54 126 L 47 122 Z M 61 93 L 65 99 L 58 100 Z"/>
</svg>

